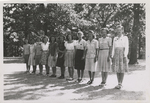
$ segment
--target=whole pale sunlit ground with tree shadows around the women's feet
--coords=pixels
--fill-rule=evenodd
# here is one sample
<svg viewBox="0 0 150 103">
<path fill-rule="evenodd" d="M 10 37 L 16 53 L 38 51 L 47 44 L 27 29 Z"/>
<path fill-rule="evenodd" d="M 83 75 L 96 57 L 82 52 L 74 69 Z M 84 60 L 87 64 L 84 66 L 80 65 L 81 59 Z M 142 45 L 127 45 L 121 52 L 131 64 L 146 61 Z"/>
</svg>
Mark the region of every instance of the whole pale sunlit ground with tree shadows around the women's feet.
<svg viewBox="0 0 150 103">
<path fill-rule="evenodd" d="M 145 61 L 130 65 L 130 72 L 125 75 L 123 88 L 114 89 L 117 85 L 116 75 L 109 74 L 107 86 L 100 89 L 101 75 L 96 73 L 92 85 L 87 85 L 88 72 L 84 81 L 68 83 L 46 76 L 25 74 L 25 64 L 4 64 L 4 100 L 52 100 L 52 101 L 99 101 L 99 100 L 145 100 L 146 70 Z M 31 69 L 32 70 L 32 69 Z M 37 71 L 39 72 L 39 71 Z M 57 74 L 60 74 L 58 68 Z M 59 76 L 59 75 L 58 75 Z M 68 72 L 66 70 L 66 76 Z M 77 77 L 75 71 L 75 78 Z"/>
</svg>

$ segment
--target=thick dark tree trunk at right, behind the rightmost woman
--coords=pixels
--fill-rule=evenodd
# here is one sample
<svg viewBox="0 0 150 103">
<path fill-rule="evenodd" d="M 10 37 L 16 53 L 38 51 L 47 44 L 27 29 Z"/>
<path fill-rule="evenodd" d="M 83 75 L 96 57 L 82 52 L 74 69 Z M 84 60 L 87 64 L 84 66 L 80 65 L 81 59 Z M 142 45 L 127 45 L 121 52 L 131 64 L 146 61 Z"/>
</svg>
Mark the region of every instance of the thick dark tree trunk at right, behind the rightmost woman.
<svg viewBox="0 0 150 103">
<path fill-rule="evenodd" d="M 139 35 L 139 6 L 140 4 L 134 4 L 134 23 L 133 23 L 133 33 L 132 33 L 132 43 L 131 43 L 131 54 L 129 64 L 137 63 L 137 45 L 138 45 L 138 35 Z"/>
</svg>

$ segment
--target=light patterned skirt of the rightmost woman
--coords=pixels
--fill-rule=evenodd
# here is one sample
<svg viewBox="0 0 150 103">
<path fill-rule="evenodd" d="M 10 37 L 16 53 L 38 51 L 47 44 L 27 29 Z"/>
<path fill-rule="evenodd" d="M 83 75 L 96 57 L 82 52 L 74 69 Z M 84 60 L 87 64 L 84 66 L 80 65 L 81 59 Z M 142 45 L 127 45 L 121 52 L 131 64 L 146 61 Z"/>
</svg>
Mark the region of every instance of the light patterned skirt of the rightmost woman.
<svg viewBox="0 0 150 103">
<path fill-rule="evenodd" d="M 112 71 L 116 73 L 128 72 L 128 61 L 123 59 L 124 48 L 115 48 L 114 57 L 112 60 Z"/>
</svg>

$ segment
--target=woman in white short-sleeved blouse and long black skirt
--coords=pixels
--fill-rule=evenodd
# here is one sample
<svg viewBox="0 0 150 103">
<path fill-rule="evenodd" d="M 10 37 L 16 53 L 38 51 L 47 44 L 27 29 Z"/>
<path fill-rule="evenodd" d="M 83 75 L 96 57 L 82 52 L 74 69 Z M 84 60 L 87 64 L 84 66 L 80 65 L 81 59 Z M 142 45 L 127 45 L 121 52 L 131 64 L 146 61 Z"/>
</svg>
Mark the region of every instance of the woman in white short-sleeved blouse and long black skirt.
<svg viewBox="0 0 150 103">
<path fill-rule="evenodd" d="M 75 46 L 75 69 L 77 69 L 78 80 L 77 82 L 81 82 L 84 74 L 84 67 L 85 67 L 85 58 L 84 51 L 86 47 L 86 41 L 82 39 L 83 32 L 78 32 L 78 38 Z"/>
</svg>

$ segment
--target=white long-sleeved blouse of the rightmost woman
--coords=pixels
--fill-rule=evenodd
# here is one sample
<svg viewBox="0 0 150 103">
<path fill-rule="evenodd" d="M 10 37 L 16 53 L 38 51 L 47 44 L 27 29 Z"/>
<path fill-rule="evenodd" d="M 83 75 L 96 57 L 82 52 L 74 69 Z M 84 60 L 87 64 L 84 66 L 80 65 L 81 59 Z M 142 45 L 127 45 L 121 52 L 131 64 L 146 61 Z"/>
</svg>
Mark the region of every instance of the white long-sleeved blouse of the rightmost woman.
<svg viewBox="0 0 150 103">
<path fill-rule="evenodd" d="M 115 37 L 113 40 L 113 48 L 112 48 L 112 57 L 114 56 L 114 51 L 116 47 L 124 47 L 124 57 L 127 57 L 129 52 L 129 41 L 127 36 Z"/>
</svg>

